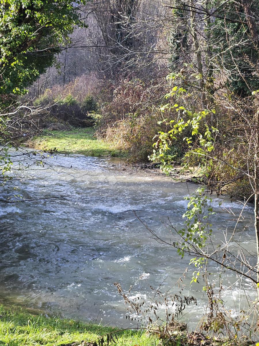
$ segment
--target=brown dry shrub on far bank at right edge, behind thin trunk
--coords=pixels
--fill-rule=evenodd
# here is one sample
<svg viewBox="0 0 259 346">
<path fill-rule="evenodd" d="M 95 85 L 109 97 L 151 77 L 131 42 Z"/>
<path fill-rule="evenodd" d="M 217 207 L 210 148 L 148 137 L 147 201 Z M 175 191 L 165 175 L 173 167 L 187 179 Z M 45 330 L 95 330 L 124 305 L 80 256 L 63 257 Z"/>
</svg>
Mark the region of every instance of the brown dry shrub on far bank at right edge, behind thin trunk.
<svg viewBox="0 0 259 346">
<path fill-rule="evenodd" d="M 213 156 L 209 170 L 208 184 L 212 190 L 229 194 L 234 198 L 249 198 L 252 188 L 249 178 L 244 172 L 251 167 L 249 121 L 253 114 L 252 102 L 249 98 L 236 99 L 235 107 L 219 98 L 216 104 L 215 126 L 219 134 L 215 138 Z M 233 102 L 233 101 L 232 101 Z M 246 122 L 244 123 L 244 119 Z M 208 171 L 208 167 L 205 167 Z"/>
</svg>

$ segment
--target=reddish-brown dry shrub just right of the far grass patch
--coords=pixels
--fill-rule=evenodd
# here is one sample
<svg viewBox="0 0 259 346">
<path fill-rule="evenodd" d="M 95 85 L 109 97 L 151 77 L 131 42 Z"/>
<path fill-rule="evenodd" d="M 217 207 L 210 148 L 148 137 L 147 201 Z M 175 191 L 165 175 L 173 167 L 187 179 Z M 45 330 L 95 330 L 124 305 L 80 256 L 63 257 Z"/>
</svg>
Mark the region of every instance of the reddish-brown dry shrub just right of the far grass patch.
<svg viewBox="0 0 259 346">
<path fill-rule="evenodd" d="M 165 130 L 166 125 L 158 125 L 158 121 L 169 116 L 159 110 L 165 102 L 164 86 L 134 78 L 117 82 L 116 88 L 114 83 L 110 84 L 108 88 L 114 88 L 112 99 L 103 102 L 100 108 L 102 119 L 96 135 L 126 151 L 131 162 L 147 161 L 153 151 L 154 137 Z"/>
</svg>

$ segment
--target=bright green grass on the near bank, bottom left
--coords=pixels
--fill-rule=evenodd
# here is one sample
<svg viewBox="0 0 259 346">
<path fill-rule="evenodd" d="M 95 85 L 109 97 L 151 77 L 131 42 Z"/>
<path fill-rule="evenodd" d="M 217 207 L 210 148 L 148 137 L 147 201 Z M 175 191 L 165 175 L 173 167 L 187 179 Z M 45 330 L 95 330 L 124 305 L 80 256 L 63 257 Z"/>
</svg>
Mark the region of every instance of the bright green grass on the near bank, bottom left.
<svg viewBox="0 0 259 346">
<path fill-rule="evenodd" d="M 98 345 L 98 339 L 100 344 L 104 341 L 103 346 L 107 346 L 107 334 L 112 335 L 115 341 L 110 342 L 110 346 L 156 346 L 159 342 L 157 337 L 141 330 L 118 330 L 75 320 L 47 318 L 21 308 L 0 306 L 0 315 L 1 346 L 68 346 L 83 341 L 86 346 L 94 341 Z"/>
</svg>

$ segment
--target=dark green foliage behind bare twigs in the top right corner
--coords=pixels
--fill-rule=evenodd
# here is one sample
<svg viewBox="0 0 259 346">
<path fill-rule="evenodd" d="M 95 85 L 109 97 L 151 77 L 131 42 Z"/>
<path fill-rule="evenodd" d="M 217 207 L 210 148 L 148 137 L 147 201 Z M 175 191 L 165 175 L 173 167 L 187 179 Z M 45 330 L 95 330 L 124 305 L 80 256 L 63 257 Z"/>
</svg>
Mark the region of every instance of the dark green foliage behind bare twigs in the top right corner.
<svg viewBox="0 0 259 346">
<path fill-rule="evenodd" d="M 223 67 L 227 71 L 227 86 L 232 92 L 243 97 L 259 88 L 259 51 L 249 31 L 250 18 L 244 11 L 246 5 L 239 4 L 235 11 L 233 6 L 233 1 L 221 1 L 218 11 L 221 18 L 215 18 L 211 30 L 212 52 L 220 55 L 224 52 L 221 55 L 222 60 L 217 59 L 219 73 Z M 249 1 L 249 7 L 255 17 L 258 17 L 258 6 L 258 0 Z M 227 25 L 224 15 L 227 17 Z"/>
</svg>

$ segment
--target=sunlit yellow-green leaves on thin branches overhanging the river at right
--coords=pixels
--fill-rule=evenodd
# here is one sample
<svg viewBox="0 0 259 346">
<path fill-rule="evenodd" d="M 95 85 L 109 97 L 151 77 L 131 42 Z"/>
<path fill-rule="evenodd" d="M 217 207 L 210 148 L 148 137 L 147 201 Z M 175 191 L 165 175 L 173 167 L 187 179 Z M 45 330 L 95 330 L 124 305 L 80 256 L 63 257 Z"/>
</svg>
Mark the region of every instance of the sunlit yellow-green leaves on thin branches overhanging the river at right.
<svg viewBox="0 0 259 346">
<path fill-rule="evenodd" d="M 166 99 L 171 99 L 176 95 L 182 95 L 186 90 L 174 86 L 170 93 L 165 95 Z M 213 126 L 210 128 L 206 123 L 206 118 L 210 115 L 208 110 L 200 112 L 188 111 L 185 107 L 166 103 L 161 107 L 161 111 L 165 112 L 170 109 L 178 114 L 177 120 L 164 119 L 159 123 L 166 123 L 167 131 L 159 131 L 156 136 L 157 141 L 153 144 L 153 154 L 149 156 L 150 161 L 160 163 L 160 168 L 164 173 L 170 174 L 174 168 L 174 160 L 177 154 L 172 153 L 172 145 L 179 142 L 179 137 L 183 142 L 186 142 L 188 149 L 182 158 L 182 169 L 188 169 L 192 164 L 199 164 L 206 167 L 205 173 L 209 175 L 210 165 L 212 161 L 211 152 L 214 149 L 215 138 L 218 130 Z M 213 111 L 212 111 L 213 112 Z M 183 137 L 182 134 L 185 136 Z M 197 249 L 202 250 L 207 246 L 207 241 L 211 236 L 212 229 L 208 227 L 208 218 L 212 213 L 212 208 L 209 206 L 210 199 L 204 195 L 204 189 L 196 190 L 194 196 L 188 196 L 187 211 L 183 218 L 184 227 L 176 230 L 180 239 L 173 243 L 177 248 L 178 254 L 183 258 L 186 253 L 196 253 Z M 207 212 L 204 210 L 207 209 Z M 211 225 L 210 225 L 211 227 Z M 196 251 L 196 252 L 195 252 Z M 200 269 L 206 262 L 206 258 L 202 256 L 194 257 L 190 263 L 198 267 L 198 271 L 194 272 L 192 282 L 198 280 Z"/>
</svg>

